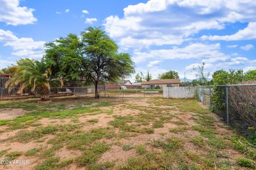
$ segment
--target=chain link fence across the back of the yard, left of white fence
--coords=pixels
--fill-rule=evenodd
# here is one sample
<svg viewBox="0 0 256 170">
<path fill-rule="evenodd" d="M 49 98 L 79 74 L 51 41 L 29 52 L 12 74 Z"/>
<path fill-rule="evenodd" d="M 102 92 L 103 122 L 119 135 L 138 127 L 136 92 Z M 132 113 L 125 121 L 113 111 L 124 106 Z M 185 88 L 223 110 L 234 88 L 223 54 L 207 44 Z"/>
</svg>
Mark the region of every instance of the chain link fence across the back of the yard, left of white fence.
<svg viewBox="0 0 256 170">
<path fill-rule="evenodd" d="M 22 95 L 18 94 L 19 88 L 13 88 L 9 92 L 9 88 L 0 88 L 1 100 L 5 99 L 20 99 L 20 98 L 33 98 L 40 97 L 40 89 L 36 89 L 34 92 L 31 92 L 29 89 L 23 90 Z M 162 97 L 163 89 L 146 89 L 141 86 L 129 88 L 114 87 L 107 88 L 106 86 L 99 86 L 99 95 L 100 97 Z M 51 87 L 50 88 L 50 97 L 60 97 L 60 96 L 91 96 L 94 97 L 95 88 L 94 86 L 89 87 Z"/>
</svg>

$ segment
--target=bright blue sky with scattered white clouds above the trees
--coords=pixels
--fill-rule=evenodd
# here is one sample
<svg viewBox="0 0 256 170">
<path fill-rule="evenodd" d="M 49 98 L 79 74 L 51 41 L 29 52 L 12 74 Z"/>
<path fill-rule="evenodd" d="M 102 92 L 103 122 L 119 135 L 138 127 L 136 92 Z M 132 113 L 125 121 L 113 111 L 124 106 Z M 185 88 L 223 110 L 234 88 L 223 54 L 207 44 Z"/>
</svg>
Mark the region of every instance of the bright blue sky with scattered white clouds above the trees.
<svg viewBox="0 0 256 170">
<path fill-rule="evenodd" d="M 256 69 L 255 0 L 0 0 L 0 69 L 41 60 L 44 44 L 101 27 L 136 73 Z M 129 78 L 134 81 L 134 75 Z"/>
</svg>

